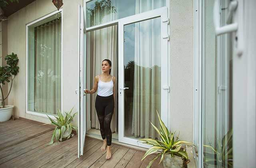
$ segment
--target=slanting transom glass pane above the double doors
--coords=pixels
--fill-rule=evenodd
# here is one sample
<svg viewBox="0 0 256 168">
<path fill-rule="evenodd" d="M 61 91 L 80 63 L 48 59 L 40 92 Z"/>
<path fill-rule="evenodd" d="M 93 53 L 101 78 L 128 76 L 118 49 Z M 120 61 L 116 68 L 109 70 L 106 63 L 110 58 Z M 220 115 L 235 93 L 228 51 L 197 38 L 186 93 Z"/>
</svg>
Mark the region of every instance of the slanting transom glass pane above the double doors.
<svg viewBox="0 0 256 168">
<path fill-rule="evenodd" d="M 166 0 L 92 0 L 86 3 L 86 27 L 166 6 Z"/>
</svg>

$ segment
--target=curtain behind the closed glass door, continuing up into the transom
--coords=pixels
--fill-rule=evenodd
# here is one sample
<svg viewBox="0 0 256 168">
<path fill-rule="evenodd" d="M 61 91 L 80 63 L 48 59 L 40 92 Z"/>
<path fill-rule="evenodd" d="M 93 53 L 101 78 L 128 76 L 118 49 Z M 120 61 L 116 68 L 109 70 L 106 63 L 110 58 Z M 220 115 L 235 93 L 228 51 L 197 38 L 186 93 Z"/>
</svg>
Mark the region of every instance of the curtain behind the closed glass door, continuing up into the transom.
<svg viewBox="0 0 256 168">
<path fill-rule="evenodd" d="M 136 14 L 165 4 L 164 0 L 136 0 Z M 156 109 L 161 113 L 161 20 L 135 23 L 135 70 L 132 134 L 160 138 L 149 121 L 159 127 Z"/>
</svg>

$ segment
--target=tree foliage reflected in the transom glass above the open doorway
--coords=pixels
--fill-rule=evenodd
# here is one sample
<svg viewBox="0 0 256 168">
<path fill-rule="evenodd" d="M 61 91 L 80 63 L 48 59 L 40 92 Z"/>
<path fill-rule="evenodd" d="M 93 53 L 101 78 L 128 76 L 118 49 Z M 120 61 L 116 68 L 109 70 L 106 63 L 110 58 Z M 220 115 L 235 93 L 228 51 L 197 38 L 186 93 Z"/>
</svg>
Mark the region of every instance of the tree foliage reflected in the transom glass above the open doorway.
<svg viewBox="0 0 256 168">
<path fill-rule="evenodd" d="M 101 24 L 102 19 L 111 14 L 111 13 L 116 13 L 117 10 L 115 6 L 112 6 L 111 0 L 96 0 L 94 2 L 94 8 L 87 8 L 87 15 L 91 16 L 91 26 L 94 26 L 95 24 Z M 96 14 L 99 16 L 99 20 L 97 23 L 94 23 L 94 17 L 96 17 Z"/>
</svg>

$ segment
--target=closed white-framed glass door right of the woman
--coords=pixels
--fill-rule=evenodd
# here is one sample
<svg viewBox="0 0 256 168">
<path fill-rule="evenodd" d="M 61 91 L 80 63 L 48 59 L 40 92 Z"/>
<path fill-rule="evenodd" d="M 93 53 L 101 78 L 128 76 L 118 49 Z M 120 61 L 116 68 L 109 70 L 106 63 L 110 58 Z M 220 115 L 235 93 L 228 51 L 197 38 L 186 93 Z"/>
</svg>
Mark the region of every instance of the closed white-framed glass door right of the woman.
<svg viewBox="0 0 256 168">
<path fill-rule="evenodd" d="M 156 110 L 168 127 L 167 8 L 119 20 L 119 141 L 149 147 L 139 138 L 160 139 Z"/>
</svg>

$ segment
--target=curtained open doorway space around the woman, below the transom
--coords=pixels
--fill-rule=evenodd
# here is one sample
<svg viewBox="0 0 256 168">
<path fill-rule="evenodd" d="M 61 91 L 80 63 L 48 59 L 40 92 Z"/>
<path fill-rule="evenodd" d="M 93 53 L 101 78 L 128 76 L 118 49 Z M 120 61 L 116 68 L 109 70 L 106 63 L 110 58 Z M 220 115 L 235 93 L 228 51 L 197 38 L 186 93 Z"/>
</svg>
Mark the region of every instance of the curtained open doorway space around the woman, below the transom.
<svg viewBox="0 0 256 168">
<path fill-rule="evenodd" d="M 101 63 L 103 59 L 109 59 L 112 62 L 111 67 L 111 75 L 117 77 L 118 66 L 117 66 L 117 25 L 109 26 L 107 28 L 102 28 L 99 30 L 94 30 L 86 33 L 86 71 L 87 76 L 85 78 L 86 88 L 92 89 L 94 83 L 94 77 L 102 73 Z M 116 81 L 118 83 L 118 81 Z M 118 85 L 115 85 L 115 90 Z M 95 94 L 87 94 L 87 110 L 86 115 L 91 116 L 91 129 L 88 132 L 93 134 L 99 134 L 99 120 L 97 117 L 97 112 L 95 109 L 95 98 L 97 93 Z M 115 112 L 112 115 L 111 120 L 111 131 L 112 138 L 117 139 L 117 97 L 118 94 L 115 94 Z"/>
</svg>

